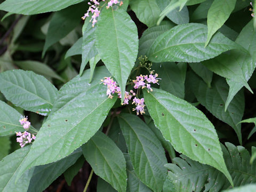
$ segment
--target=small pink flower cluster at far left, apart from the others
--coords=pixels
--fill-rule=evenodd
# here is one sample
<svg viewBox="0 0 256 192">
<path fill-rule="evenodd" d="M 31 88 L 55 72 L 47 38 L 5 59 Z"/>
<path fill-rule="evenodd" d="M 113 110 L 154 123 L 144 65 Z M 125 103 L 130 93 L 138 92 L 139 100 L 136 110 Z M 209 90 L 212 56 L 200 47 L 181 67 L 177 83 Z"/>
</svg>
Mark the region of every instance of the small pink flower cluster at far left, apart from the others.
<svg viewBox="0 0 256 192">
<path fill-rule="evenodd" d="M 28 121 L 28 117 L 23 117 L 19 120 L 20 124 L 23 125 L 23 128 L 26 130 L 25 132 L 16 132 L 17 139 L 16 141 L 20 143 L 20 147 L 24 147 L 27 143 L 31 143 L 32 140 L 36 139 L 34 134 L 28 132 L 30 128 L 30 122 Z"/>
</svg>

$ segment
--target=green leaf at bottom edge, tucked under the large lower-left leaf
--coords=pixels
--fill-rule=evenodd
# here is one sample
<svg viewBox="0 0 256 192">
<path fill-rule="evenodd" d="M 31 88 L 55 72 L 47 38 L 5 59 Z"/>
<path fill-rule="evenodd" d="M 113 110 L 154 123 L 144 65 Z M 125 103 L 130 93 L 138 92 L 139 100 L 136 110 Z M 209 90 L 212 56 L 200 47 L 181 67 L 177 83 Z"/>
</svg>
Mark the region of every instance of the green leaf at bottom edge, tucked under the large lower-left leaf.
<svg viewBox="0 0 256 192">
<path fill-rule="evenodd" d="M 93 171 L 117 191 L 126 191 L 127 175 L 122 151 L 107 135 L 97 132 L 85 145 L 83 154 Z"/>
</svg>

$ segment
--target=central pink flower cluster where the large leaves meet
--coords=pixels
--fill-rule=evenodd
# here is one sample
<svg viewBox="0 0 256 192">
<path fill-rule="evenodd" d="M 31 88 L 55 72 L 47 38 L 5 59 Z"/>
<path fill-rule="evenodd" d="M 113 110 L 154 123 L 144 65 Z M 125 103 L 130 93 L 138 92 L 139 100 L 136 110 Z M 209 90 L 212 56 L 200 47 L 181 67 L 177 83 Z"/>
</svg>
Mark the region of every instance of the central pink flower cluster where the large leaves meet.
<svg viewBox="0 0 256 192">
<path fill-rule="evenodd" d="M 153 75 L 153 73 L 151 73 L 149 76 L 148 75 L 137 76 L 136 79 L 133 80 L 133 83 L 135 84 L 133 86 L 134 89 L 139 89 L 139 88 L 143 89 L 143 88 L 147 87 L 148 90 L 153 91 L 153 89 L 151 88 L 150 83 L 158 84 L 158 79 L 161 79 L 161 78 L 157 78 L 157 76 L 158 76 L 157 74 Z M 104 85 L 107 85 L 107 95 L 110 99 L 113 98 L 114 93 L 117 93 L 118 98 L 122 98 L 121 89 L 117 85 L 117 83 L 113 80 L 113 78 L 104 77 L 104 79 L 101 79 L 101 82 Z M 133 90 L 130 90 L 130 92 L 125 91 L 125 93 L 124 93 L 124 102 L 122 103 L 122 105 L 128 105 L 129 101 L 135 95 L 137 95 L 137 94 L 134 93 Z M 134 99 L 132 101 L 133 101 L 132 104 L 135 104 L 135 106 L 136 106 L 135 108 L 133 108 L 133 110 L 137 111 L 137 115 L 144 114 L 145 113 L 144 98 L 139 99 L 137 97 L 134 97 Z"/>
</svg>

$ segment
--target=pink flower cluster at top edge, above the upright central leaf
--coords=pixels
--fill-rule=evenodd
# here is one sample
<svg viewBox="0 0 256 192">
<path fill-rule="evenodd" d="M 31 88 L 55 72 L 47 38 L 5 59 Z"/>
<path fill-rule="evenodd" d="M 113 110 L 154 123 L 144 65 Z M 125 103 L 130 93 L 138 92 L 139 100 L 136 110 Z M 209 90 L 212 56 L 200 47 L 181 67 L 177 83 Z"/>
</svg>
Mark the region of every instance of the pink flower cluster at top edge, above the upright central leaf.
<svg viewBox="0 0 256 192">
<path fill-rule="evenodd" d="M 99 10 L 99 0 L 90 0 L 91 2 L 89 2 L 88 4 L 90 5 L 89 9 L 87 10 L 87 12 L 84 14 L 84 16 L 82 17 L 83 20 L 86 19 L 86 17 L 89 17 L 89 13 L 91 12 L 92 13 L 92 18 L 90 20 L 90 22 L 92 21 L 92 27 L 94 27 L 95 23 L 98 21 L 97 18 L 99 17 L 100 15 L 100 10 Z M 105 2 L 106 0 L 102 0 L 103 2 Z M 107 6 L 107 9 L 109 9 L 109 7 L 113 6 L 113 4 L 117 4 L 117 3 L 120 3 L 119 1 L 117 0 L 110 0 L 108 2 L 108 6 Z M 121 2 L 122 3 L 122 2 Z M 120 3 L 120 5 L 122 5 Z"/>
</svg>

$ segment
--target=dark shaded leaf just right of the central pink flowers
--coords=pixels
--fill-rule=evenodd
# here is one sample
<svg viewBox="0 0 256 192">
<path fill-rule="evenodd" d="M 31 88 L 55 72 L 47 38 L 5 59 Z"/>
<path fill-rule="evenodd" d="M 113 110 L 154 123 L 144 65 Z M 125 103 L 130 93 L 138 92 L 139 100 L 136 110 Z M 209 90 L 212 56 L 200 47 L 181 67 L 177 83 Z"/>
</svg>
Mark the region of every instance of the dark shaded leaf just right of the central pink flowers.
<svg viewBox="0 0 256 192">
<path fill-rule="evenodd" d="M 159 83 L 162 90 L 184 99 L 185 79 L 182 77 L 183 72 L 179 69 L 175 62 L 156 63 L 152 68 L 158 74 L 158 77 L 162 78 Z"/>
</svg>

